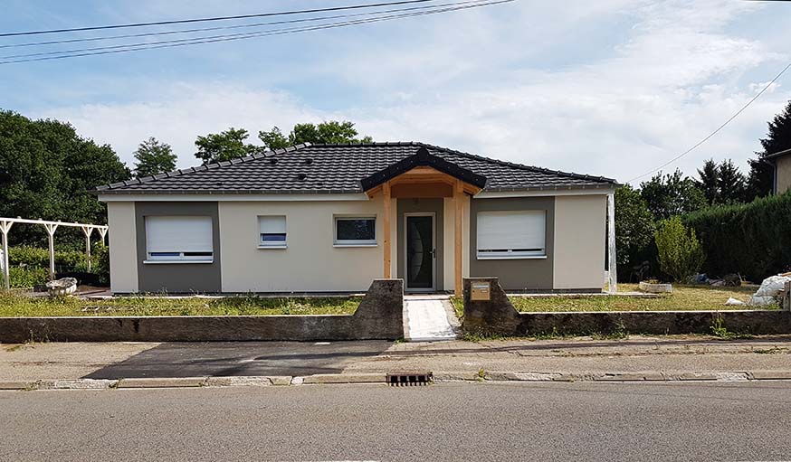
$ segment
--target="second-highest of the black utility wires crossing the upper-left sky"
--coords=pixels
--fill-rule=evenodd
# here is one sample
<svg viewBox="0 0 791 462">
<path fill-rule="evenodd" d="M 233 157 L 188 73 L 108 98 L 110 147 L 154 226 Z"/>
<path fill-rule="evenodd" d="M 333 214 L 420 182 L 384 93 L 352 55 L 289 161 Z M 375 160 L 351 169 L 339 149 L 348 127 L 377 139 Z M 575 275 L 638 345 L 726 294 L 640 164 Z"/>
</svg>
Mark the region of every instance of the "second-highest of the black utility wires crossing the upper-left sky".
<svg viewBox="0 0 791 462">
<path fill-rule="evenodd" d="M 399 11 L 415 11 L 415 10 L 425 10 L 430 8 L 436 8 L 441 6 L 449 6 L 449 5 L 464 5 L 464 4 L 472 4 L 477 2 L 482 2 L 484 0 L 469 0 L 465 2 L 453 2 L 453 3 L 446 3 L 446 4 L 438 4 L 438 5 L 423 5 L 423 6 L 410 6 L 406 8 L 394 8 L 389 10 L 379 10 L 373 12 L 366 12 L 366 13 L 355 13 L 355 14 L 334 14 L 331 16 L 318 16 L 318 17 L 311 17 L 311 18 L 302 18 L 302 19 L 290 19 L 290 20 L 283 20 L 283 21 L 269 21 L 266 23 L 253 23 L 253 24 L 236 24 L 236 25 L 222 25 L 216 27 L 200 27 L 195 29 L 181 29 L 176 31 L 162 31 L 162 32 L 155 32 L 155 33 L 127 33 L 122 35 L 106 35 L 103 37 L 85 37 L 80 39 L 66 39 L 66 40 L 52 40 L 52 41 L 44 41 L 44 42 L 23 42 L 23 43 L 8 43 L 5 45 L 0 45 L 0 49 L 3 48 L 21 48 L 21 47 L 32 47 L 32 46 L 42 46 L 42 45 L 56 45 L 62 43 L 77 43 L 77 42 L 96 42 L 102 40 L 117 40 L 117 39 L 129 39 L 129 38 L 138 38 L 138 37 L 151 37 L 151 36 L 159 36 L 159 35 L 172 35 L 176 33 L 198 33 L 198 32 L 210 32 L 210 31 L 221 31 L 221 30 L 228 30 L 228 29 L 243 29 L 243 28 L 251 28 L 251 27 L 261 27 L 264 25 L 278 25 L 278 24 L 295 24 L 295 23 L 308 23 L 314 21 L 322 21 L 322 20 L 329 20 L 329 19 L 342 19 L 342 18 L 350 18 L 350 17 L 358 17 L 358 16 L 367 16 L 372 14 L 385 14 L 385 13 L 394 13 Z"/>
</svg>

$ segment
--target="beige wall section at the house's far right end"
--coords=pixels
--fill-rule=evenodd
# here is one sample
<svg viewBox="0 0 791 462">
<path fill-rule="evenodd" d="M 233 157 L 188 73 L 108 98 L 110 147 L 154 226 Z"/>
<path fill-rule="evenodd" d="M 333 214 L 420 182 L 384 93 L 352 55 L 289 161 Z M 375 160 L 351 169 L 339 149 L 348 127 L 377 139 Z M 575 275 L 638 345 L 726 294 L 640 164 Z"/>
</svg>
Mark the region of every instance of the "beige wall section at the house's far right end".
<svg viewBox="0 0 791 462">
<path fill-rule="evenodd" d="M 555 198 L 554 288 L 604 287 L 606 206 L 606 195 Z"/>
</svg>

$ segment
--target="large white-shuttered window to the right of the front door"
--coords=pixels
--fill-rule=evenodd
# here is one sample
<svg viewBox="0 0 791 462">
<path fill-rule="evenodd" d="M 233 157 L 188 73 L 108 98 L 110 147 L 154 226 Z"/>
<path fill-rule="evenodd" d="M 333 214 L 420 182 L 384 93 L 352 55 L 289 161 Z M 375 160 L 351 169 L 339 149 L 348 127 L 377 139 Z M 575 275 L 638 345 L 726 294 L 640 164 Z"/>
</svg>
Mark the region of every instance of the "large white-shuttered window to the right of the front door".
<svg viewBox="0 0 791 462">
<path fill-rule="evenodd" d="M 478 212 L 478 259 L 547 256 L 547 212 Z"/>
</svg>

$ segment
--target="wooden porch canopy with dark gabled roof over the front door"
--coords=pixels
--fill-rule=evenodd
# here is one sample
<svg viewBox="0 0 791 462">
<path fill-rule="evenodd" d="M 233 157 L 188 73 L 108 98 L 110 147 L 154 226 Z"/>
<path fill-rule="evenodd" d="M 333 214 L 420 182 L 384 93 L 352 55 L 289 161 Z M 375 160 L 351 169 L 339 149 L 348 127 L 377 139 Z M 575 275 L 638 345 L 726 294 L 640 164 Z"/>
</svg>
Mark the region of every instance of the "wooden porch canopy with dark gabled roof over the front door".
<svg viewBox="0 0 791 462">
<path fill-rule="evenodd" d="M 462 294 L 462 198 L 464 194 L 475 195 L 486 185 L 486 177 L 472 170 L 434 156 L 421 147 L 414 156 L 405 157 L 385 169 L 360 180 L 368 197 L 382 193 L 385 203 L 383 220 L 385 236 L 384 276 L 391 278 L 390 271 L 390 199 L 453 197 L 454 202 L 454 292 Z"/>
</svg>

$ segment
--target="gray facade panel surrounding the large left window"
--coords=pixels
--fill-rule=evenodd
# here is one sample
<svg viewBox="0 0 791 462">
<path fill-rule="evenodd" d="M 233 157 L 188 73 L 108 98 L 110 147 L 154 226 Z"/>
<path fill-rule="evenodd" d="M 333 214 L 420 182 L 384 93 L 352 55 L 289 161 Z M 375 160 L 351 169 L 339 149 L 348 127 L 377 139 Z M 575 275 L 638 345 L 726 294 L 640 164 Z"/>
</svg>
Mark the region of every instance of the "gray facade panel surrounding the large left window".
<svg viewBox="0 0 791 462">
<path fill-rule="evenodd" d="M 212 263 L 145 263 L 147 216 L 209 216 L 212 218 Z M 138 244 L 138 291 L 140 292 L 222 292 L 220 271 L 220 218 L 216 202 L 135 203 L 135 231 Z"/>
</svg>

